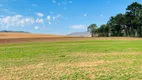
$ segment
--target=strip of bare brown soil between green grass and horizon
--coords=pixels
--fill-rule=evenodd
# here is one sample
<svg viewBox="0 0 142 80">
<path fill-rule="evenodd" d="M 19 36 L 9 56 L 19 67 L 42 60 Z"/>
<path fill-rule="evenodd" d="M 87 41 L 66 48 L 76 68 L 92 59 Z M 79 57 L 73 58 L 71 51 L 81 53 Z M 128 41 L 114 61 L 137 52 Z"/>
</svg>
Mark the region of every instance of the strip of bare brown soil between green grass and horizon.
<svg viewBox="0 0 142 80">
<path fill-rule="evenodd" d="M 30 33 L 0 33 L 0 44 L 23 43 L 23 42 L 58 42 L 58 41 L 80 41 L 80 40 L 142 40 L 131 37 L 71 37 L 48 34 Z"/>
</svg>

